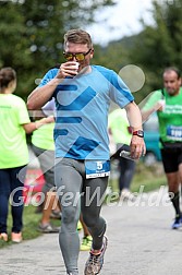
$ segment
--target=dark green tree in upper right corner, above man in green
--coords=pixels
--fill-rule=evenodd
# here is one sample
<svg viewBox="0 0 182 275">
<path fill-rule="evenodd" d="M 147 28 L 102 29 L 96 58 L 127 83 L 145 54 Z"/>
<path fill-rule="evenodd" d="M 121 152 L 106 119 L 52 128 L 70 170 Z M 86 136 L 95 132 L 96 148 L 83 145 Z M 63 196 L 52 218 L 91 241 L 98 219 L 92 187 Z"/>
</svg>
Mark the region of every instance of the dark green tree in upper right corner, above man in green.
<svg viewBox="0 0 182 275">
<path fill-rule="evenodd" d="M 144 24 L 131 55 L 133 62 L 146 74 L 146 85 L 139 97 L 162 86 L 161 73 L 166 67 L 182 68 L 182 0 L 154 0 L 153 5 L 155 24 Z"/>
</svg>

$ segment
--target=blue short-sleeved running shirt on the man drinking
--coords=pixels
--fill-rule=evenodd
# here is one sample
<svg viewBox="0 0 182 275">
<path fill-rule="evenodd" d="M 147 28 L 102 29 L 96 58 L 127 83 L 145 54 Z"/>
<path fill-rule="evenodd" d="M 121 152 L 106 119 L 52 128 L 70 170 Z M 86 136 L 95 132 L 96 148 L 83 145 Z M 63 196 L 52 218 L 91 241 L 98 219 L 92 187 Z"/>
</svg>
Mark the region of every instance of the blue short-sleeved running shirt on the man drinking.
<svg viewBox="0 0 182 275">
<path fill-rule="evenodd" d="M 52 80 L 59 69 L 51 69 L 39 86 Z M 112 70 L 92 65 L 92 72 L 66 77 L 52 95 L 56 99 L 56 157 L 109 159 L 108 111 L 110 99 L 121 108 L 134 98 Z"/>
</svg>

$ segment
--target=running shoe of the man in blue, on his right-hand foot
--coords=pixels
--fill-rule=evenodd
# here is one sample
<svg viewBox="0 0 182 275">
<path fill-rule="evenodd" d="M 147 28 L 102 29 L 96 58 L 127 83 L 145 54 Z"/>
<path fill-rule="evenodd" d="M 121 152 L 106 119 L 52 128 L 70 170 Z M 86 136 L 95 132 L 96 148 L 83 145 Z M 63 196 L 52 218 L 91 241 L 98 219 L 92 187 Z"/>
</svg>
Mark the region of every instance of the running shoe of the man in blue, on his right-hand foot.
<svg viewBox="0 0 182 275">
<path fill-rule="evenodd" d="M 95 255 L 90 250 L 89 258 L 85 264 L 85 272 L 84 272 L 85 275 L 95 275 L 100 273 L 101 267 L 104 265 L 104 255 L 107 249 L 107 244 L 108 239 L 106 238 L 106 236 L 104 236 L 104 244 L 100 253 Z"/>
</svg>

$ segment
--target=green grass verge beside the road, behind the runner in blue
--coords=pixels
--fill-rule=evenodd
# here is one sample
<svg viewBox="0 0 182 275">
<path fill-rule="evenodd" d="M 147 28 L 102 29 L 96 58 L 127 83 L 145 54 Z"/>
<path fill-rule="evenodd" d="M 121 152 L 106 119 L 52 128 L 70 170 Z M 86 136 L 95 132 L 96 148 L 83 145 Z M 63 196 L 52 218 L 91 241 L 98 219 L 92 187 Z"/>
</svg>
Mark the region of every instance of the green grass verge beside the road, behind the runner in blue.
<svg viewBox="0 0 182 275">
<path fill-rule="evenodd" d="M 110 180 L 109 186 L 112 188 L 112 191 L 118 191 L 118 181 L 117 179 Z M 143 163 L 138 163 L 136 166 L 135 176 L 131 186 L 132 192 L 138 192 L 141 187 L 144 187 L 144 192 L 149 192 L 156 189 L 159 189 L 160 186 L 166 186 L 166 177 L 161 167 L 161 164 L 156 164 L 153 167 L 145 167 Z M 41 232 L 37 231 L 38 223 L 41 218 L 41 214 L 35 213 L 36 207 L 28 205 L 24 207 L 24 228 L 23 228 L 23 238 L 24 240 L 29 240 L 37 238 Z M 51 220 L 54 226 L 59 226 L 59 220 Z M 8 231 L 9 231 L 9 241 L 4 242 L 0 240 L 0 249 L 13 244 L 10 240 L 11 231 L 11 215 L 9 214 L 8 218 Z M 13 244 L 17 246 L 17 244 Z"/>
</svg>

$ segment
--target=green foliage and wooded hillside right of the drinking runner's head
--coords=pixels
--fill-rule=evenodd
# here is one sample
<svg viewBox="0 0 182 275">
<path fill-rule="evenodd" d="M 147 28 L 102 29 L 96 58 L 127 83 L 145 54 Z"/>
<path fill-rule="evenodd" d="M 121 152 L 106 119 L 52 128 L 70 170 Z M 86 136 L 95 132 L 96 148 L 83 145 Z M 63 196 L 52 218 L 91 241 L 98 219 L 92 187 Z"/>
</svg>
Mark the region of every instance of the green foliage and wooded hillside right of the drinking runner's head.
<svg viewBox="0 0 182 275">
<path fill-rule="evenodd" d="M 162 87 L 161 73 L 168 65 L 182 68 L 182 0 L 154 0 L 154 25 L 143 23 L 143 31 L 131 37 L 111 41 L 98 53 L 98 61 L 119 72 L 126 64 L 139 67 L 145 84 L 135 93 L 141 103 L 151 91 Z M 131 75 L 132 79 L 132 75 Z"/>
</svg>

